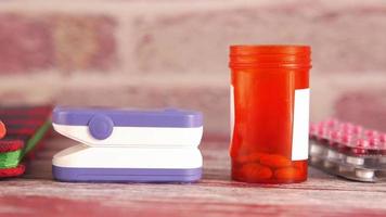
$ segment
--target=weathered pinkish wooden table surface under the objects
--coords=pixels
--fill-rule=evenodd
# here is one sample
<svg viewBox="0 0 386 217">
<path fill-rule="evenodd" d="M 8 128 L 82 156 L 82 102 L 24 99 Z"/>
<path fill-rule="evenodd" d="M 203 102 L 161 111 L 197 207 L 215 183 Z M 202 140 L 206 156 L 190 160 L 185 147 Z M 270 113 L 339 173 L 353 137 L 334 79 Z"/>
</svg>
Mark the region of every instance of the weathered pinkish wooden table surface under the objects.
<svg viewBox="0 0 386 217">
<path fill-rule="evenodd" d="M 229 142 L 201 145 L 204 178 L 192 184 L 64 183 L 51 159 L 74 141 L 53 137 L 22 178 L 0 181 L 0 216 L 386 216 L 386 183 L 351 182 L 309 168 L 298 184 L 230 180 Z"/>
</svg>

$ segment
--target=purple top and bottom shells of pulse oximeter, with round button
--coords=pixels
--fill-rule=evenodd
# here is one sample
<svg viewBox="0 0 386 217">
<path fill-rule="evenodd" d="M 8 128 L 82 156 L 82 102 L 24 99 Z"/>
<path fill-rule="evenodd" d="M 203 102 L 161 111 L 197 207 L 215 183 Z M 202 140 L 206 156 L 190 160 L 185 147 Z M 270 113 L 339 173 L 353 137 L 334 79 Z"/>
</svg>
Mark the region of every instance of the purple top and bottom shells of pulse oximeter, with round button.
<svg viewBox="0 0 386 217">
<path fill-rule="evenodd" d="M 120 110 L 57 106 L 52 123 L 68 126 L 88 126 L 95 139 L 108 138 L 114 126 L 195 128 L 203 126 L 200 112 L 184 110 Z M 195 182 L 202 168 L 81 168 L 52 165 L 56 180 L 68 182 Z"/>
</svg>

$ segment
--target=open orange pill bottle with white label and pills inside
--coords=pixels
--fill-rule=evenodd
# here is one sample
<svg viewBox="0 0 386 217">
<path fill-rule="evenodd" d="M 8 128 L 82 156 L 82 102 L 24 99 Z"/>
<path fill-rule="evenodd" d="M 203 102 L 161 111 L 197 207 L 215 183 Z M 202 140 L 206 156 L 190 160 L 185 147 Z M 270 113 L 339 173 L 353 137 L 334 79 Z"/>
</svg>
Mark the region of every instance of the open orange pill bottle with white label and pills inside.
<svg viewBox="0 0 386 217">
<path fill-rule="evenodd" d="M 231 46 L 232 179 L 307 180 L 310 47 Z"/>
</svg>

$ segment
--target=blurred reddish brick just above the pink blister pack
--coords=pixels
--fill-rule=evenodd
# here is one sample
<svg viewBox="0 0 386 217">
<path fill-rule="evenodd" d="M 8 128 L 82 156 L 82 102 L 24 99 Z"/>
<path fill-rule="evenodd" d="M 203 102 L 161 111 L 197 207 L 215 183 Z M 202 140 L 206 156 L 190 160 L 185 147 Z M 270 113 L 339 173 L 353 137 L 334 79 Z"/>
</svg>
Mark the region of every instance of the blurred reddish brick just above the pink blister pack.
<svg viewBox="0 0 386 217">
<path fill-rule="evenodd" d="M 386 89 L 344 93 L 335 104 L 342 119 L 386 131 Z"/>
</svg>

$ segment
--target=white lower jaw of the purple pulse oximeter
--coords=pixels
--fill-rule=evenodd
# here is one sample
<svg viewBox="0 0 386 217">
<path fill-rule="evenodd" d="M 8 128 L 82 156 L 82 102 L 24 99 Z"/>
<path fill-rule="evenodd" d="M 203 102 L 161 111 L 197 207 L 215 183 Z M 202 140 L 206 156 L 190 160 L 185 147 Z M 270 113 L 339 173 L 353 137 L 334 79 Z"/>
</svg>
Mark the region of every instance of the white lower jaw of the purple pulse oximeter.
<svg viewBox="0 0 386 217">
<path fill-rule="evenodd" d="M 197 148 L 104 148 L 78 144 L 54 155 L 52 164 L 73 168 L 190 169 L 203 166 Z"/>
</svg>

